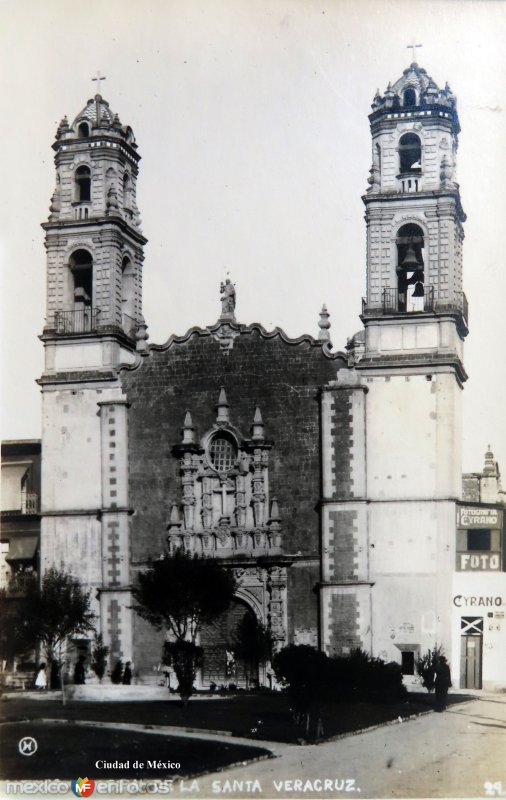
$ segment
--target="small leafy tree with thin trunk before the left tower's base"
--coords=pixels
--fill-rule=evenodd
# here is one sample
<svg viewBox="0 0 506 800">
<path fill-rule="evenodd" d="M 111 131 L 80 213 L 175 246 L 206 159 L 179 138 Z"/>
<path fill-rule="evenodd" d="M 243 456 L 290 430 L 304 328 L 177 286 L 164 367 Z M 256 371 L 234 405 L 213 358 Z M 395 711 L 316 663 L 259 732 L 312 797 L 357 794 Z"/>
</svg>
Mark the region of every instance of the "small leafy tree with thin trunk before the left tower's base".
<svg viewBox="0 0 506 800">
<path fill-rule="evenodd" d="M 28 590 L 26 613 L 47 661 L 59 670 L 62 702 L 65 703 L 63 656 L 70 636 L 94 629 L 90 592 L 85 592 L 72 575 L 51 567 L 44 573 L 41 586 Z"/>
</svg>

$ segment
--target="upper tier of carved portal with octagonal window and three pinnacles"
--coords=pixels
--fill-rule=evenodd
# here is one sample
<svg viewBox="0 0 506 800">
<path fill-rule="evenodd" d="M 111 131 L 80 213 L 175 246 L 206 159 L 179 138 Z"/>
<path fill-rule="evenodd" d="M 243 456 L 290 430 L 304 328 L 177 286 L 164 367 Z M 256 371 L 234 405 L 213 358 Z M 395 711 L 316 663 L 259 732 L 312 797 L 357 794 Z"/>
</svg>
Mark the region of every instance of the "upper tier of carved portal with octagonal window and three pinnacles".
<svg viewBox="0 0 506 800">
<path fill-rule="evenodd" d="M 181 501 L 169 522 L 169 550 L 203 555 L 267 556 L 281 552 L 276 498 L 269 497 L 269 451 L 257 407 L 246 438 L 230 424 L 221 389 L 216 422 L 197 442 L 187 411 L 182 442 L 174 447 L 181 465 Z"/>
</svg>

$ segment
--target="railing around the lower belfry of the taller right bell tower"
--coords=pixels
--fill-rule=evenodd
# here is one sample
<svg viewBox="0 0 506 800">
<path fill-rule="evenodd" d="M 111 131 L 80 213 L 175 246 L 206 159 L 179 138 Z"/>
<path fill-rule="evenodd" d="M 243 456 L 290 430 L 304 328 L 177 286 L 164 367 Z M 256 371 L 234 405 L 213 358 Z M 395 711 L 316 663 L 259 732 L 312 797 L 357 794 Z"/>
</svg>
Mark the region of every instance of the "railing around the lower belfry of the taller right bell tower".
<svg viewBox="0 0 506 800">
<path fill-rule="evenodd" d="M 436 298 L 434 294 L 433 286 L 424 287 L 423 297 L 406 295 L 405 291 L 397 288 L 385 288 L 376 302 L 368 302 L 367 298 L 362 298 L 362 315 L 367 317 L 377 314 L 449 312 L 460 314 L 467 325 L 468 304 L 464 292 L 455 292 L 452 298 Z"/>
</svg>

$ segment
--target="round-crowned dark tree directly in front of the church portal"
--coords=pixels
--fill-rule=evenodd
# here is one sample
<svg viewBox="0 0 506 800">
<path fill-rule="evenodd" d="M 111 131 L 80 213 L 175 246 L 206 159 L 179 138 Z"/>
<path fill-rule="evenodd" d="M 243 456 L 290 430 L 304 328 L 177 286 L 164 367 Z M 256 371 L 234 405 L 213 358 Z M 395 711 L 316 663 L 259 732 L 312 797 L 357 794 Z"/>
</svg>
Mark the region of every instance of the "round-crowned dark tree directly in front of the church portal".
<svg viewBox="0 0 506 800">
<path fill-rule="evenodd" d="M 192 694 L 202 657 L 198 632 L 228 609 L 236 588 L 232 572 L 217 561 L 182 550 L 153 561 L 138 575 L 134 608 L 154 628 L 169 632 L 164 663 L 172 664 L 184 702 Z"/>
</svg>

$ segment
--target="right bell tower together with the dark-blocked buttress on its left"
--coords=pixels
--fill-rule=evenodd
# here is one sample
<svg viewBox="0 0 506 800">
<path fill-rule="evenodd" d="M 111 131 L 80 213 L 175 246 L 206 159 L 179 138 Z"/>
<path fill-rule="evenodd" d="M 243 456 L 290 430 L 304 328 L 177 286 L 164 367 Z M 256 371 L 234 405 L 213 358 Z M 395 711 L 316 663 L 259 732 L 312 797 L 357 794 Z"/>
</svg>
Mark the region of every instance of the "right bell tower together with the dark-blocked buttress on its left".
<svg viewBox="0 0 506 800">
<path fill-rule="evenodd" d="M 324 497 L 323 639 L 329 652 L 362 646 L 409 674 L 429 646 L 451 656 L 468 332 L 460 127 L 448 84 L 416 63 L 376 94 L 369 120 L 364 331 L 323 396 L 336 473 Z"/>
</svg>

